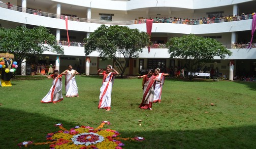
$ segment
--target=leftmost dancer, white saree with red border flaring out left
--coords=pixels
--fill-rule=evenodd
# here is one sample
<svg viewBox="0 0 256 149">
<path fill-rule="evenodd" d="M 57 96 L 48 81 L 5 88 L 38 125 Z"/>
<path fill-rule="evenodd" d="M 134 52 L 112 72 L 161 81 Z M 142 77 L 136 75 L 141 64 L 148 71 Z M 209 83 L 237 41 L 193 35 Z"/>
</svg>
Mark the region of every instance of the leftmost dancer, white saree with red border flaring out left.
<svg viewBox="0 0 256 149">
<path fill-rule="evenodd" d="M 62 96 L 62 75 L 58 74 L 58 70 L 54 70 L 52 75 L 49 75 L 48 78 L 53 78 L 52 87 L 50 88 L 47 95 L 41 100 L 41 103 L 57 103 L 63 100 Z"/>
</svg>

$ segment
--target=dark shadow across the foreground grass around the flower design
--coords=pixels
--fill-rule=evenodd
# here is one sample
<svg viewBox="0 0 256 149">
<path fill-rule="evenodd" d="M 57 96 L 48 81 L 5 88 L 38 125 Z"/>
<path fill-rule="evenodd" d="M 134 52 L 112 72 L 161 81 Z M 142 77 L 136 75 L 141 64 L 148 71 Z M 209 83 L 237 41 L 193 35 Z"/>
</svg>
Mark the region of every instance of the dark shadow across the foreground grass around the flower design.
<svg viewBox="0 0 256 149">
<path fill-rule="evenodd" d="M 62 123 L 67 129 L 77 125 L 77 122 L 71 123 L 58 118 L 3 107 L 1 107 L 0 116 L 0 148 L 19 148 L 18 143 L 28 140 L 47 142 L 45 137 L 47 133 L 59 130 L 54 126 L 55 124 Z M 200 130 L 184 130 L 184 128 L 172 130 L 170 126 L 155 128 L 152 131 L 145 131 L 144 127 L 147 126 L 143 123 L 142 126 L 136 127 L 140 127 L 141 131 L 117 130 L 122 138 L 145 137 L 142 142 L 121 140 L 125 148 L 255 148 L 256 146 L 256 125 Z M 104 129 L 107 128 L 107 125 L 104 126 Z M 50 147 L 37 145 L 31 148 Z"/>
</svg>

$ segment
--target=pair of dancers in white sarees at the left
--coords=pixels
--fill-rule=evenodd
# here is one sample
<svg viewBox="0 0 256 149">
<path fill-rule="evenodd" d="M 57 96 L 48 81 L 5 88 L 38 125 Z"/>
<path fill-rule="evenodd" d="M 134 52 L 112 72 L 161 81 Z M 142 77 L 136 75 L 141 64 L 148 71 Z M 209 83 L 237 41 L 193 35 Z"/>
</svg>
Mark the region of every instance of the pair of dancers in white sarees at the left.
<svg viewBox="0 0 256 149">
<path fill-rule="evenodd" d="M 62 75 L 65 75 L 65 90 L 66 97 L 78 97 L 78 87 L 75 75 L 79 74 L 71 65 L 68 69 L 59 74 L 58 70 L 54 70 L 53 74 L 48 78 L 52 78 L 52 86 L 46 96 L 41 100 L 41 103 L 58 103 L 63 100 L 62 96 Z"/>
</svg>

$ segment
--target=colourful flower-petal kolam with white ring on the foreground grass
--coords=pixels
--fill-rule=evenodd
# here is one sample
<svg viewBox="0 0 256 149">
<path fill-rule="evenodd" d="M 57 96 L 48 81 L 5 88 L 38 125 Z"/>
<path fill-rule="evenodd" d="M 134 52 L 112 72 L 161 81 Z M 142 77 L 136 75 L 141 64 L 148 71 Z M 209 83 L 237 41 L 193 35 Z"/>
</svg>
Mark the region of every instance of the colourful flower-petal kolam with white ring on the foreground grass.
<svg viewBox="0 0 256 149">
<path fill-rule="evenodd" d="M 19 143 L 20 147 L 27 147 L 28 145 L 42 145 L 50 144 L 51 149 L 59 148 L 93 148 L 93 149 L 102 149 L 102 148 L 114 148 L 121 149 L 124 144 L 120 140 L 136 140 L 142 141 L 143 137 L 134 137 L 134 138 L 121 138 L 117 137 L 120 135 L 118 131 L 111 129 L 102 129 L 103 126 L 107 124 L 110 125 L 110 122 L 103 121 L 101 125 L 97 128 L 89 126 L 76 126 L 71 129 L 66 129 L 62 126 L 61 123 L 55 125 L 59 127 L 59 131 L 48 133 L 46 135 L 46 140 L 48 142 L 34 143 L 33 141 L 24 141 Z"/>
</svg>

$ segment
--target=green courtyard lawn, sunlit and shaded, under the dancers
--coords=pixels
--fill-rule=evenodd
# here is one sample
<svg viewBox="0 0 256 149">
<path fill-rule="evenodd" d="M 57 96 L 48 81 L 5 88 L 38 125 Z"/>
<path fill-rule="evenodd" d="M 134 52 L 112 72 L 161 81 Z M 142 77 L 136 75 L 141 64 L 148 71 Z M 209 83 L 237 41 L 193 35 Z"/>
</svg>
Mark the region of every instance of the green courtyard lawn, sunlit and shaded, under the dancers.
<svg viewBox="0 0 256 149">
<path fill-rule="evenodd" d="M 124 148 L 256 148 L 256 83 L 167 78 L 162 103 L 150 111 L 138 108 L 142 79 L 116 78 L 107 112 L 98 109 L 102 76 L 79 75 L 76 80 L 79 97 L 57 104 L 40 103 L 52 82 L 45 76 L 16 76 L 13 86 L 0 88 L 0 148 L 18 148 L 27 140 L 46 142 L 47 133 L 59 130 L 57 123 L 95 128 L 102 121 L 123 138 L 145 137 L 142 142 L 122 140 Z"/>
</svg>

